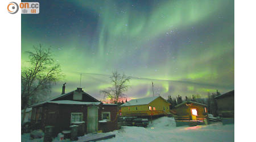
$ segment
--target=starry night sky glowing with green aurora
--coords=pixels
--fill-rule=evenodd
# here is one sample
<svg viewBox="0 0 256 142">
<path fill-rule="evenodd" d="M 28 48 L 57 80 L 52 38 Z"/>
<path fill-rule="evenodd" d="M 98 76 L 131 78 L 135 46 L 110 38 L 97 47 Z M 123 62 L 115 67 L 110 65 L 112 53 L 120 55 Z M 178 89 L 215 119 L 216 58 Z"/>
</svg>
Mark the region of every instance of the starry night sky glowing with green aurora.
<svg viewBox="0 0 256 142">
<path fill-rule="evenodd" d="M 32 1 L 26 1 L 32 2 Z M 36 1 L 38 2 L 38 1 Z M 39 1 L 22 14 L 22 66 L 51 47 L 66 75 L 51 95 L 81 87 L 97 99 L 113 71 L 131 76 L 128 99 L 207 97 L 234 89 L 234 1 Z"/>
</svg>

